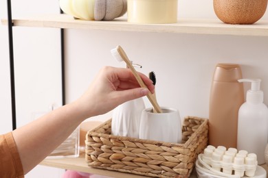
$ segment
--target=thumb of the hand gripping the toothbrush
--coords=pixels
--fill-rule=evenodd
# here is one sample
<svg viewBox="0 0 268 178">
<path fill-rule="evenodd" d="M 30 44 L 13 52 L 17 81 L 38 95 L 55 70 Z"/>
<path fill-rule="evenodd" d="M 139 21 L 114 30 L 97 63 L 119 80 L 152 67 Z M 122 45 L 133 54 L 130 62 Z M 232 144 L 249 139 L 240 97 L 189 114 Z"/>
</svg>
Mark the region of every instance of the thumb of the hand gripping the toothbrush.
<svg viewBox="0 0 268 178">
<path fill-rule="evenodd" d="M 123 103 L 139 97 L 144 97 L 148 94 L 149 90 L 147 88 L 133 88 L 130 90 L 124 90 L 120 92 L 120 98 Z"/>
</svg>

